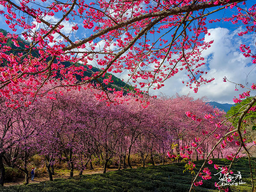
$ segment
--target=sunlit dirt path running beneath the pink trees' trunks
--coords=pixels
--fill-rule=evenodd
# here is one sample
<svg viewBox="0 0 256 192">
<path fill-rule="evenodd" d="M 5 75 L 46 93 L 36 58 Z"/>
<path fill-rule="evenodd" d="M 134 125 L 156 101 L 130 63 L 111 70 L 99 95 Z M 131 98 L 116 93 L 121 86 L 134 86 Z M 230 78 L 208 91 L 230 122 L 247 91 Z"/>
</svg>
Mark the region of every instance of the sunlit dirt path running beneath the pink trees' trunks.
<svg viewBox="0 0 256 192">
<path fill-rule="evenodd" d="M 107 172 L 112 172 L 116 171 L 117 169 L 107 169 Z M 94 168 L 93 170 L 84 170 L 83 175 L 91 175 L 91 174 L 96 174 L 96 173 L 103 173 L 103 168 Z M 74 176 L 78 176 L 79 171 L 74 171 Z M 31 175 L 30 175 L 31 176 Z M 62 172 L 61 170 L 56 170 L 55 175 L 52 175 L 53 180 L 56 178 L 68 178 L 69 173 L 68 172 Z M 47 181 L 49 180 L 48 174 L 40 175 L 40 177 L 35 177 L 34 180 L 32 181 L 31 179 L 29 180 L 29 183 L 40 183 L 42 181 Z M 15 182 L 6 182 L 4 183 L 4 186 L 12 186 L 12 185 L 21 185 L 24 183 L 24 179 L 17 179 Z"/>
</svg>

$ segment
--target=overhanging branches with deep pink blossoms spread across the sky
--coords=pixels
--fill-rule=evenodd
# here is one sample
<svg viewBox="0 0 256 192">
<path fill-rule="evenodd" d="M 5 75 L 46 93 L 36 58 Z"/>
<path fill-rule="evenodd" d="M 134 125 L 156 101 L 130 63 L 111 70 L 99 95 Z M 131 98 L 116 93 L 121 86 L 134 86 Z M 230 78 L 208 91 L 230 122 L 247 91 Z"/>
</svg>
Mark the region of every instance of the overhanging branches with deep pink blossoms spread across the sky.
<svg viewBox="0 0 256 192">
<path fill-rule="evenodd" d="M 162 87 L 179 70 L 187 71 L 186 85 L 197 92 L 201 84 L 213 80 L 204 79 L 207 72 L 199 69 L 204 65 L 201 50 L 212 43 L 205 42 L 202 36 L 208 34 L 207 17 L 222 9 L 237 8 L 238 15 L 209 22 L 240 22 L 248 26 L 240 35 L 253 32 L 255 9 L 244 9 L 244 2 L 96 0 L 86 4 L 83 0 L 3 0 L 0 14 L 6 18 L 6 24 L 14 32 L 18 27 L 23 30 L 7 36 L 0 33 L 1 96 L 10 98 L 17 92 L 35 96 L 44 84 L 54 85 L 61 79 L 64 81 L 55 86 L 92 87 L 90 82 L 95 80 L 99 87 L 104 87 L 111 82 L 108 76 L 100 83 L 99 78 L 106 72 L 128 73 L 130 83 L 148 92 L 149 87 Z M 76 33 L 81 29 L 92 35 L 81 37 Z M 14 48 L 5 45 L 9 39 Z M 10 50 L 15 54 L 9 54 Z M 249 50 L 250 47 L 241 46 L 241 51 L 250 56 Z M 93 63 L 101 70 L 84 76 Z M 26 84 L 26 88 L 21 88 L 21 84 Z M 139 88 L 134 91 L 141 94 Z M 122 94 L 113 92 L 116 98 Z"/>
</svg>

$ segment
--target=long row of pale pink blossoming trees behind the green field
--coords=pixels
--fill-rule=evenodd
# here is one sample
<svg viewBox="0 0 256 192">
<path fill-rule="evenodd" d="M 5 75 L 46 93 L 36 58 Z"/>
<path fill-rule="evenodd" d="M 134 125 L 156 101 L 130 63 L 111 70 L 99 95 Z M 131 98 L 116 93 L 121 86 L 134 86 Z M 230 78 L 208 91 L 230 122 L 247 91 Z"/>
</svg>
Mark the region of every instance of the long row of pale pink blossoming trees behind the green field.
<svg viewBox="0 0 256 192">
<path fill-rule="evenodd" d="M 50 99 L 38 97 L 29 107 L 15 110 L 6 107 L 8 103 L 1 97 L 1 184 L 4 164 L 22 170 L 28 183 L 27 166 L 35 154 L 44 157 L 50 180 L 54 164 L 60 159 L 67 162 L 70 177 L 74 169 L 82 174 L 95 157 L 105 162 L 104 173 L 113 157 L 119 158 L 119 169 L 132 168 L 131 154 L 139 155 L 143 166 L 147 158 L 154 165 L 156 154 L 164 163 L 168 151 L 173 157 L 187 155 L 195 160 L 204 159 L 204 154 L 228 129 L 223 125 L 215 133 L 215 123 L 225 113 L 206 105 L 204 99 L 151 98 L 148 99 L 151 104 L 143 108 L 134 96 L 124 96 L 122 103 L 108 106 L 97 100 L 96 94 L 83 88 L 80 91 L 58 89 L 47 96 Z M 114 97 L 110 93 L 109 96 Z M 23 96 L 23 99 L 28 98 Z M 190 114 L 186 114 L 188 110 Z M 207 120 L 205 114 L 212 119 Z M 212 157 L 227 155 L 228 150 L 220 149 L 221 145 Z"/>
</svg>

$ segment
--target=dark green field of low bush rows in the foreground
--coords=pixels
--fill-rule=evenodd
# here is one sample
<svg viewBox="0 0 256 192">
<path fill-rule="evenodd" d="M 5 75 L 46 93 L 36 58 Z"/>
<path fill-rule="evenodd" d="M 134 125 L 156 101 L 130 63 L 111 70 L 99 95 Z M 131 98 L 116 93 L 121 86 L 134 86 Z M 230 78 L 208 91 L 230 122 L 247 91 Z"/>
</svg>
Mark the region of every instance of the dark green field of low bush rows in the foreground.
<svg viewBox="0 0 256 192">
<path fill-rule="evenodd" d="M 195 162 L 197 169 L 203 161 Z M 229 165 L 229 160 L 213 160 L 213 164 L 222 166 Z M 195 192 L 217 192 L 214 186 L 219 181 L 217 170 L 212 165 L 207 167 L 212 171 L 212 178 L 204 180 L 204 184 L 195 187 Z M 172 163 L 168 165 L 139 167 L 137 169 L 123 169 L 120 171 L 108 172 L 106 174 L 82 175 L 69 179 L 55 179 L 54 181 L 46 181 L 41 183 L 29 184 L 27 186 L 17 185 L 10 187 L 2 187 L 3 192 L 187 192 L 192 181 L 191 173 L 185 172 L 184 163 Z M 230 186 L 230 191 L 249 192 L 250 171 L 248 161 L 240 159 L 235 162 L 232 170 L 234 174 L 241 172 L 241 180 L 245 184 L 238 186 Z M 256 176 L 256 175 L 255 175 Z M 200 177 L 201 180 L 201 177 Z"/>
</svg>

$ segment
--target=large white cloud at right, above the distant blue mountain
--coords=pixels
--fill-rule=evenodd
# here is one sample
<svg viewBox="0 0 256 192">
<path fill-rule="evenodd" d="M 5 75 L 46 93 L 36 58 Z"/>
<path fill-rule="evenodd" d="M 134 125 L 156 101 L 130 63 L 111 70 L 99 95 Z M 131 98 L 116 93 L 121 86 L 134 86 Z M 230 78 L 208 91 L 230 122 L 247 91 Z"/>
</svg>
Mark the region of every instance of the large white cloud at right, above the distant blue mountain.
<svg viewBox="0 0 256 192">
<path fill-rule="evenodd" d="M 209 29 L 211 35 L 206 35 L 205 41 L 214 39 L 214 42 L 209 49 L 202 52 L 207 66 L 202 66 L 201 69 L 208 72 L 204 76 L 205 78 L 214 77 L 215 80 L 199 87 L 198 93 L 194 93 L 192 89 L 181 83 L 182 80 L 187 80 L 187 78 L 186 74 L 180 72 L 180 74 L 168 79 L 163 88 L 157 91 L 151 90 L 150 93 L 157 95 L 163 93 L 168 96 L 172 96 L 175 93 L 180 95 L 190 93 L 195 98 L 207 96 L 210 101 L 233 103 L 233 97 L 238 97 L 239 93 L 246 90 L 237 86 L 239 91 L 235 91 L 235 84 L 224 82 L 224 76 L 230 81 L 245 85 L 246 76 L 250 73 L 248 75 L 248 86 L 251 86 L 256 76 L 256 68 L 252 70 L 254 66 L 250 65 L 251 59 L 245 58 L 239 50 L 240 44 L 250 40 L 252 37 L 249 37 L 249 35 L 239 37 L 237 35 L 238 30 L 241 29 L 237 29 L 234 32 L 230 32 L 226 28 Z M 251 44 L 251 41 L 248 43 Z"/>
</svg>

